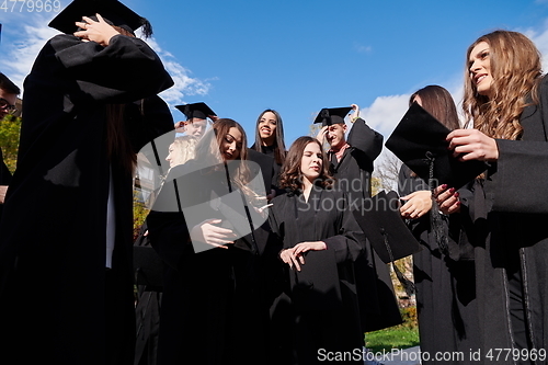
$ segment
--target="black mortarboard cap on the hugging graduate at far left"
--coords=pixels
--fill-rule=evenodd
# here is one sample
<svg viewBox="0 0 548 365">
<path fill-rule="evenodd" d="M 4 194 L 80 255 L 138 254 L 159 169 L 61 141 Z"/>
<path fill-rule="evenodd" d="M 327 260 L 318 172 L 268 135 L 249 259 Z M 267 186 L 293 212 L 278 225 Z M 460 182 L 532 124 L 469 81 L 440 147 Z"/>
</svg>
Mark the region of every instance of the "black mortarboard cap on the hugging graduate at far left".
<svg viewBox="0 0 548 365">
<path fill-rule="evenodd" d="M 81 21 L 82 16 L 94 19 L 96 13 L 110 21 L 112 25 L 132 33 L 144 26 L 145 36 L 152 34 L 150 23 L 145 18 L 117 0 L 73 0 L 48 25 L 66 34 L 72 34 L 78 30 L 75 22 Z"/>
</svg>

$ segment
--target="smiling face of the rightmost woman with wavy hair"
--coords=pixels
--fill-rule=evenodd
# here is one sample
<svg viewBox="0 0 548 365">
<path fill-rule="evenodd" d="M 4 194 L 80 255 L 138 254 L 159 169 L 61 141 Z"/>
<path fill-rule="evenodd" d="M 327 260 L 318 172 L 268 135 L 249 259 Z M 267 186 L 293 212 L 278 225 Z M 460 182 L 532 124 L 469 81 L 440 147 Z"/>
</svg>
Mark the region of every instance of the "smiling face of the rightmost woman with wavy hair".
<svg viewBox="0 0 548 365">
<path fill-rule="evenodd" d="M 491 49 L 487 42 L 480 42 L 470 52 L 468 70 L 471 83 L 478 94 L 491 98 L 493 76 L 491 73 Z"/>
</svg>

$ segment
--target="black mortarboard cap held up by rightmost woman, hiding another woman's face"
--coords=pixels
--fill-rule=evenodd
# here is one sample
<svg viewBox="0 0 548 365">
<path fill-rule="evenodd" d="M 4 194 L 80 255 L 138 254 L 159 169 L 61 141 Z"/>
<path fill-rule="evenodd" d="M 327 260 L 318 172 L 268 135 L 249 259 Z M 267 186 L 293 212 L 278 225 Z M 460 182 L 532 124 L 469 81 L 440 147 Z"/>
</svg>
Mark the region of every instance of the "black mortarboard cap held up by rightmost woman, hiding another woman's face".
<svg viewBox="0 0 548 365">
<path fill-rule="evenodd" d="M 450 129 L 413 103 L 385 146 L 424 181 L 434 179 L 434 186 L 447 184 L 460 189 L 489 164 L 477 160 L 459 161 L 454 157 L 446 140 L 449 133 Z"/>
</svg>

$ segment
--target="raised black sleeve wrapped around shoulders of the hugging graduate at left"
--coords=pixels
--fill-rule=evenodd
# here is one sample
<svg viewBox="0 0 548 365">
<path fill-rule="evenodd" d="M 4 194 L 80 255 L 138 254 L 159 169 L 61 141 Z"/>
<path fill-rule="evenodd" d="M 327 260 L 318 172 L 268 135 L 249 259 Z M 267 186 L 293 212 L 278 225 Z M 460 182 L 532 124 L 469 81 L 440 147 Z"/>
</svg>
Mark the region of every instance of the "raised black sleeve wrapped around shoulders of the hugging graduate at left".
<svg viewBox="0 0 548 365">
<path fill-rule="evenodd" d="M 159 56 L 139 38 L 115 35 L 103 47 L 64 34 L 52 38 L 49 46 L 52 71 L 76 81 L 71 99 L 127 103 L 173 85 Z"/>
</svg>

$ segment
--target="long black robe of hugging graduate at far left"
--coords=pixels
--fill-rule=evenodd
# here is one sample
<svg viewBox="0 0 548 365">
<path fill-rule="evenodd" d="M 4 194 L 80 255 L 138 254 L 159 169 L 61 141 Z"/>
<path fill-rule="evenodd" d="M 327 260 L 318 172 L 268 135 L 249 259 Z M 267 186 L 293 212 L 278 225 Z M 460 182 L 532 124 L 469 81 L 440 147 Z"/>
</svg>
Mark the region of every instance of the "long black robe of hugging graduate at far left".
<svg viewBox="0 0 548 365">
<path fill-rule="evenodd" d="M 137 152 L 173 128 L 151 96 L 172 84 L 134 37 L 102 47 L 62 34 L 38 54 L 0 227 L 1 356 L 13 364 L 133 364 L 132 173 L 107 157 L 105 105 L 125 104 L 123 133 Z M 105 270 L 111 181 L 116 231 Z"/>
</svg>

